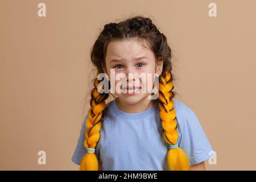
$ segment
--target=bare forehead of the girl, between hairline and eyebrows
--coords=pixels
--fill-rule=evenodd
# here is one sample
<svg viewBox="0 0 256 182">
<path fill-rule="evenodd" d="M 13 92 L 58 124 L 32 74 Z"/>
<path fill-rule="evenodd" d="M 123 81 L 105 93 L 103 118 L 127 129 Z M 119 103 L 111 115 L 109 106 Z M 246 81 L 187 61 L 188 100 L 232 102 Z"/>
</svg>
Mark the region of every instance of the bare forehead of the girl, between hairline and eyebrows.
<svg viewBox="0 0 256 182">
<path fill-rule="evenodd" d="M 154 53 L 150 48 L 146 48 L 135 39 L 115 40 L 108 44 L 106 51 L 106 61 L 113 59 L 132 60 L 136 57 L 154 58 Z"/>
</svg>

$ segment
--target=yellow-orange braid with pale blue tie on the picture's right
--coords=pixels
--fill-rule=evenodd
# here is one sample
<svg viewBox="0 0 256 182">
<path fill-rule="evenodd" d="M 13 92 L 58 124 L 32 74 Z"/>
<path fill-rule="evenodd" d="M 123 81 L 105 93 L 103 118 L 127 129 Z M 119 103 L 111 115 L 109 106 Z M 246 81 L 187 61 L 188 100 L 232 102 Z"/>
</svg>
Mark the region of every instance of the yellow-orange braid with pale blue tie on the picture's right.
<svg viewBox="0 0 256 182">
<path fill-rule="evenodd" d="M 177 147 L 178 132 L 176 130 L 176 112 L 174 109 L 174 101 L 170 100 L 172 96 L 171 73 L 166 72 L 166 76 L 160 76 L 159 80 L 159 109 L 160 118 L 162 119 L 162 127 L 164 129 L 163 139 L 170 145 L 167 154 L 167 163 L 171 171 L 188 171 L 189 160 L 185 152 Z"/>
</svg>

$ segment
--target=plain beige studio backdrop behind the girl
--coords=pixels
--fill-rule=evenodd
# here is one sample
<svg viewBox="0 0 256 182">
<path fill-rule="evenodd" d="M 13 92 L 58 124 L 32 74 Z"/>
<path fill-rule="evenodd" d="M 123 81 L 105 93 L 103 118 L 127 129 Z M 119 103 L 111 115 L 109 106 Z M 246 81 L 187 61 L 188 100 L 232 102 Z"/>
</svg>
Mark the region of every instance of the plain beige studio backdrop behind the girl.
<svg viewBox="0 0 256 182">
<path fill-rule="evenodd" d="M 37 15 L 40 2 L 46 17 Z M 0 169 L 79 169 L 71 158 L 89 107 L 90 48 L 104 24 L 144 15 L 174 52 L 176 99 L 195 111 L 217 152 L 207 169 L 255 170 L 255 7 L 254 0 L 2 0 Z M 37 163 L 40 150 L 46 165 Z"/>
</svg>

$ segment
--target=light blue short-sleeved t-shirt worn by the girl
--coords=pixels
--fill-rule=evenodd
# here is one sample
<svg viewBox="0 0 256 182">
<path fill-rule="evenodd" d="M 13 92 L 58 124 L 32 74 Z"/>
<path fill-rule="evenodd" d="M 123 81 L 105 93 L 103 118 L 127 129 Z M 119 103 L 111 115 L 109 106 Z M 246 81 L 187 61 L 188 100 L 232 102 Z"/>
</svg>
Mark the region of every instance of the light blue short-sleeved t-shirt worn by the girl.
<svg viewBox="0 0 256 182">
<path fill-rule="evenodd" d="M 210 158 L 212 151 L 195 113 L 183 102 L 173 100 L 176 111 L 178 143 L 192 165 Z M 87 152 L 84 147 L 86 115 L 82 123 L 72 162 L 79 164 Z M 159 108 L 150 106 L 141 113 L 125 113 L 115 100 L 104 110 L 100 140 L 96 147 L 101 170 L 121 171 L 168 171 L 169 146 L 162 140 L 162 125 Z"/>
</svg>

